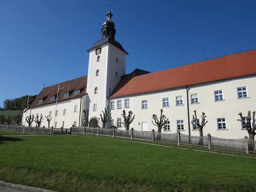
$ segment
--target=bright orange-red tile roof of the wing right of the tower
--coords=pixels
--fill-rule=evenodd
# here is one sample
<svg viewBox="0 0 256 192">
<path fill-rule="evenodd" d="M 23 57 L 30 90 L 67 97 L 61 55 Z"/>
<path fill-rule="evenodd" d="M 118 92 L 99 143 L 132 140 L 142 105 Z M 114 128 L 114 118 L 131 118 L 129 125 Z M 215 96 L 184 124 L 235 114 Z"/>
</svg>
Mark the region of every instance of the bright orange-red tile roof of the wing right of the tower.
<svg viewBox="0 0 256 192">
<path fill-rule="evenodd" d="M 256 49 L 167 70 L 124 76 L 109 98 L 256 75 Z"/>
</svg>

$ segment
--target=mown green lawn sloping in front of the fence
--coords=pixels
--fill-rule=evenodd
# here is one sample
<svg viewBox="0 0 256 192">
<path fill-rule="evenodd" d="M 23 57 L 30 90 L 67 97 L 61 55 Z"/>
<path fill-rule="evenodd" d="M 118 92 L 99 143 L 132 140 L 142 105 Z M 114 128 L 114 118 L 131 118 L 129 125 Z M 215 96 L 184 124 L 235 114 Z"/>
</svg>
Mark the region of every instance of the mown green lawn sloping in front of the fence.
<svg viewBox="0 0 256 192">
<path fill-rule="evenodd" d="M 0 180 L 58 192 L 256 191 L 251 157 L 82 135 L 0 137 L 0 155 Z"/>
</svg>

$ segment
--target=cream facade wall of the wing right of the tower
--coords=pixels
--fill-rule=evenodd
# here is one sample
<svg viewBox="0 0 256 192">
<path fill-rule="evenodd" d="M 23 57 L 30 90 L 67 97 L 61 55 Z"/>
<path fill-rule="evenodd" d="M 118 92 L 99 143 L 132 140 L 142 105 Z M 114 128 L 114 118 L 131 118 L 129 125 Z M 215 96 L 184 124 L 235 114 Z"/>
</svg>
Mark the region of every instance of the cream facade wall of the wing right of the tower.
<svg viewBox="0 0 256 192">
<path fill-rule="evenodd" d="M 162 132 L 175 133 L 177 131 L 177 120 L 183 120 L 184 129 L 179 131 L 183 134 L 189 134 L 190 126 L 190 134 L 199 136 L 199 131 L 193 130 L 191 123 L 193 111 L 196 110 L 198 119 L 201 120 L 202 112 L 207 116 L 208 123 L 203 129 L 204 135 L 209 133 L 215 137 L 242 138 L 247 136 L 247 131 L 242 129 L 241 122 L 237 121 L 239 119 L 238 113 L 241 112 L 243 116 L 247 116 L 248 111 L 255 110 L 256 106 L 253 103 L 256 100 L 255 84 L 256 77 L 254 76 L 188 87 L 189 105 L 187 105 L 186 87 L 183 87 L 156 93 L 109 99 L 109 107 L 111 108 L 111 102 L 114 102 L 115 108 L 111 109 L 114 125 L 116 125 L 117 118 L 122 117 L 122 111 L 125 109 L 126 114 L 128 114 L 128 111 L 132 111 L 135 115 L 130 128 L 133 127 L 135 130 L 142 131 L 143 122 L 147 122 L 148 131 L 157 130 L 157 127 L 152 124 L 152 115 L 157 114 L 159 118 L 160 109 L 163 109 L 163 114 L 169 118 L 170 130 L 165 131 L 163 128 Z M 246 97 L 238 98 L 238 87 L 246 87 Z M 215 91 L 218 90 L 221 90 L 223 100 L 215 101 Z M 191 94 L 198 94 L 198 103 L 192 103 Z M 176 105 L 176 96 L 183 96 L 182 105 Z M 169 106 L 163 107 L 163 98 L 169 99 Z M 125 108 L 125 99 L 130 101 L 129 108 Z M 118 100 L 122 101 L 122 108 L 119 109 L 117 109 Z M 142 109 L 143 100 L 147 100 L 148 106 L 145 109 Z M 222 129 L 218 128 L 217 119 L 224 119 L 225 122 L 222 122 L 222 125 L 226 126 L 222 127 Z M 121 129 L 125 129 L 123 124 Z"/>
</svg>

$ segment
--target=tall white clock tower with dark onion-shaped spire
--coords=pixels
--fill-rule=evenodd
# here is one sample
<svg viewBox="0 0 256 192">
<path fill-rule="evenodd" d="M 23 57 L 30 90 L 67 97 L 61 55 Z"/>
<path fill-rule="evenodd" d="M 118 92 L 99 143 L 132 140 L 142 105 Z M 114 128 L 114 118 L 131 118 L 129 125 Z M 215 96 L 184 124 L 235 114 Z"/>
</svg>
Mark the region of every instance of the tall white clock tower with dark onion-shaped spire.
<svg viewBox="0 0 256 192">
<path fill-rule="evenodd" d="M 101 29 L 102 39 L 87 50 L 90 54 L 86 90 L 89 125 L 100 117 L 104 108 L 108 108 L 108 96 L 126 72 L 128 53 L 115 40 L 116 29 L 110 8 L 106 16 Z"/>
</svg>

